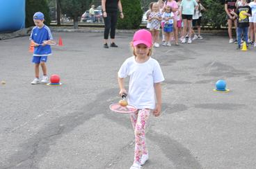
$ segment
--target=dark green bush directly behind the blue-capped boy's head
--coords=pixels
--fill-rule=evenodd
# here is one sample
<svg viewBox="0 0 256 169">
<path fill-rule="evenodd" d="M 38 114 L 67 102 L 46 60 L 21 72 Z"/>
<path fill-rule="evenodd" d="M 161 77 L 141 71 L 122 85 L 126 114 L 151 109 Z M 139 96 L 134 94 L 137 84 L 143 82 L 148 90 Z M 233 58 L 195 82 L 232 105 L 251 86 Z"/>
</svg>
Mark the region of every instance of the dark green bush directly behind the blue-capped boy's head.
<svg viewBox="0 0 256 169">
<path fill-rule="evenodd" d="M 34 26 L 33 15 L 38 11 L 45 15 L 45 24 L 50 24 L 47 0 L 26 0 L 26 27 Z"/>
</svg>

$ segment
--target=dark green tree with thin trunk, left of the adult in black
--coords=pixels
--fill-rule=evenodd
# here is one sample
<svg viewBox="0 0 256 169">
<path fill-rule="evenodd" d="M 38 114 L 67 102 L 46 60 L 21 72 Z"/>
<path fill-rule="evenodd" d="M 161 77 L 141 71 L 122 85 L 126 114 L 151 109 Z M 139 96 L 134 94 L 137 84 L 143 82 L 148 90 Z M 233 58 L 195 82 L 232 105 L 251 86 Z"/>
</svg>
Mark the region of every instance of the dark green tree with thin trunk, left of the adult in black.
<svg viewBox="0 0 256 169">
<path fill-rule="evenodd" d="M 61 12 L 74 20 L 74 28 L 78 28 L 79 17 L 83 14 L 92 0 L 60 0 Z"/>
</svg>

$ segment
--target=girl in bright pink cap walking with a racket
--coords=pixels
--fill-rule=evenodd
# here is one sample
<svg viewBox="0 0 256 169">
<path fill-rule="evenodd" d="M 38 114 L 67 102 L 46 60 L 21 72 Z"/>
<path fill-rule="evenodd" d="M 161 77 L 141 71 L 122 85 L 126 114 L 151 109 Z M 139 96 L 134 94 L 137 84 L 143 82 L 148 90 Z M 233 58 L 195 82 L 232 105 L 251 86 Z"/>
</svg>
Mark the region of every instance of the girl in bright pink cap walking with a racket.
<svg viewBox="0 0 256 169">
<path fill-rule="evenodd" d="M 163 73 L 152 54 L 152 35 L 148 30 L 141 29 L 134 33 L 131 42 L 133 56 L 127 58 L 118 71 L 119 94 L 127 94 L 129 105 L 138 108 L 131 114 L 131 124 L 134 127 L 135 150 L 134 163 L 130 169 L 140 169 L 149 158 L 145 146 L 145 126 L 150 112 L 154 116 L 161 114 L 161 82 Z M 129 76 L 129 92 L 125 89 L 125 78 Z"/>
</svg>

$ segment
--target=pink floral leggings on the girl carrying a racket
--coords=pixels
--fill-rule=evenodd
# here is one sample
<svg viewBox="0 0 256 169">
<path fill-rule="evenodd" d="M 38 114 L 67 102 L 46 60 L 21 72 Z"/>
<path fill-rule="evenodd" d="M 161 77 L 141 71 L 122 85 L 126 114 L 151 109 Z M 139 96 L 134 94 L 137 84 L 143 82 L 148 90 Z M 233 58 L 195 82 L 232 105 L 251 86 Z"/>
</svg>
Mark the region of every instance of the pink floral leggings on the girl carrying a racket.
<svg viewBox="0 0 256 169">
<path fill-rule="evenodd" d="M 135 134 L 135 150 L 134 163 L 141 163 L 143 154 L 147 154 L 145 146 L 145 126 L 150 117 L 150 109 L 139 109 L 137 114 L 131 114 L 131 123 L 134 127 Z"/>
</svg>

